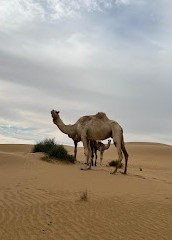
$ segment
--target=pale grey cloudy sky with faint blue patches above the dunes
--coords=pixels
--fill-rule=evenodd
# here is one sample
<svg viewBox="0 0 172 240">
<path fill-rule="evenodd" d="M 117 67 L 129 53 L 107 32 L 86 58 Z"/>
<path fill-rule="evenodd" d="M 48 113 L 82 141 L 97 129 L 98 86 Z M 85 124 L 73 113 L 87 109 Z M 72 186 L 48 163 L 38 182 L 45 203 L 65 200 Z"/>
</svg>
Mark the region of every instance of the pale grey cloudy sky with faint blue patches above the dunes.
<svg viewBox="0 0 172 240">
<path fill-rule="evenodd" d="M 0 143 L 72 139 L 105 112 L 126 142 L 172 145 L 171 0 L 0 0 Z"/>
</svg>

